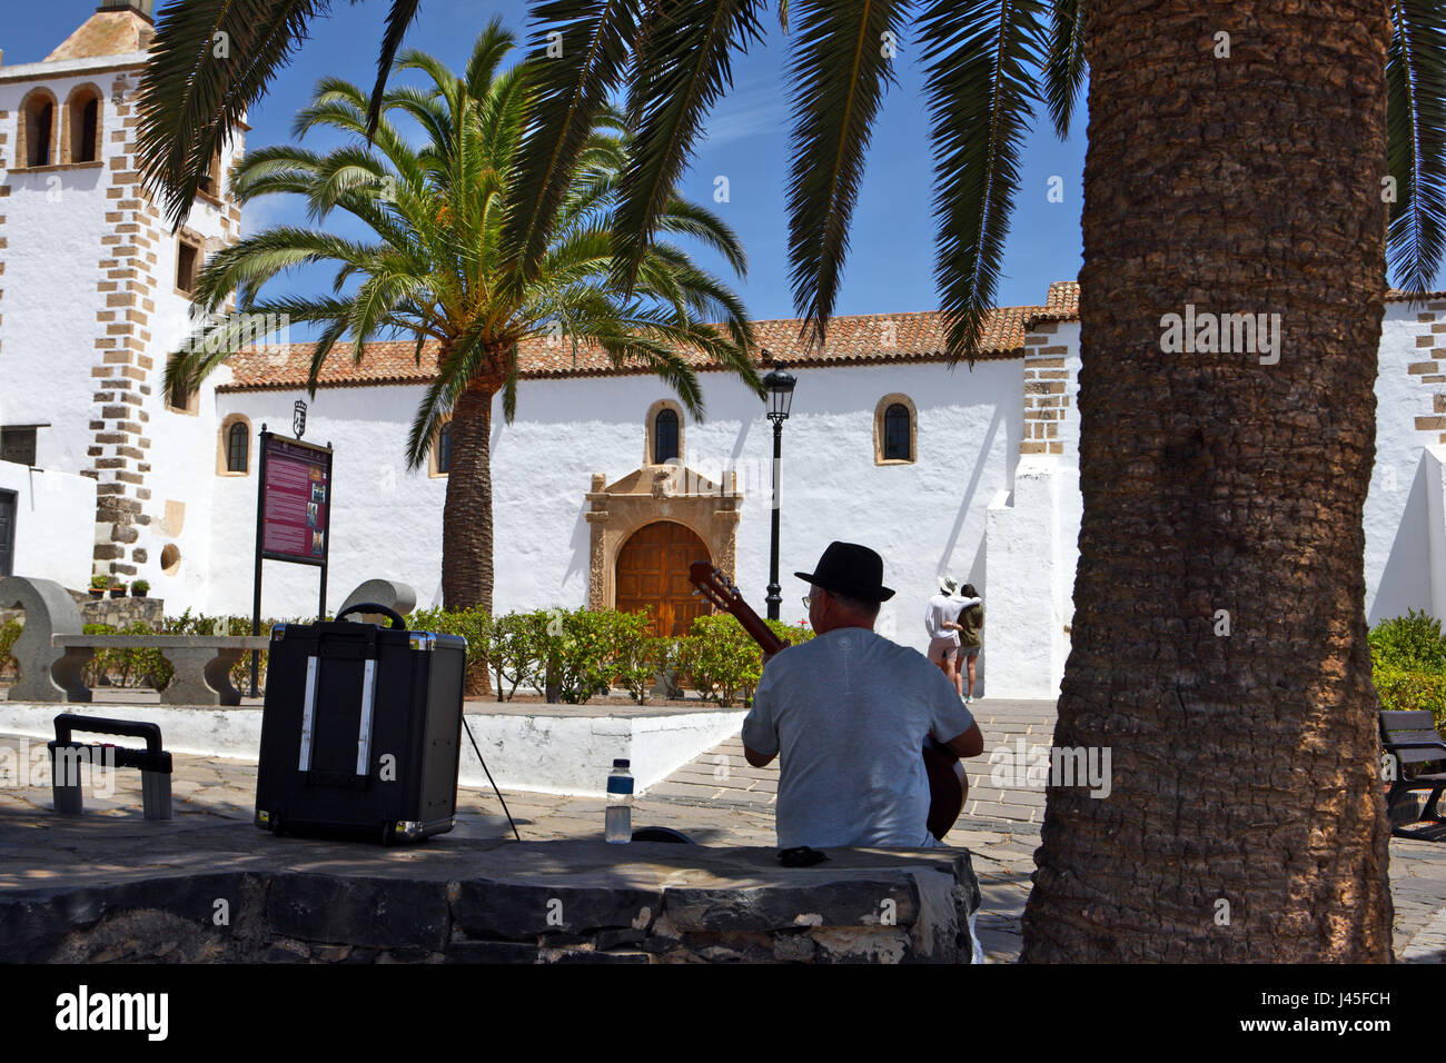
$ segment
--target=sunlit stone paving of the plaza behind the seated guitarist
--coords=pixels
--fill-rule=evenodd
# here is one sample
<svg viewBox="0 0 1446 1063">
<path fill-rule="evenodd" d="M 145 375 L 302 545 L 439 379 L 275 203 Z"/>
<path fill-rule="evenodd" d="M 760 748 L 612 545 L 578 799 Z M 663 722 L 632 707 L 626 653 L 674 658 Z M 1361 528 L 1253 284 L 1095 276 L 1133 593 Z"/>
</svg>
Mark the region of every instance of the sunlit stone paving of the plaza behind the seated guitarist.
<svg viewBox="0 0 1446 1063">
<path fill-rule="evenodd" d="M 484 703 L 469 703 L 471 712 L 486 712 Z M 975 716 L 985 733 L 985 756 L 970 762 L 969 803 L 949 845 L 967 848 L 983 904 L 977 918 L 986 959 L 1008 963 L 1021 947 L 1019 917 L 1030 892 L 1034 850 L 1044 813 L 1043 791 L 1001 793 L 989 785 L 988 754 L 1001 743 L 1028 745 L 1050 740 L 1050 706 L 1040 701 L 977 701 Z M 38 739 L 0 735 L 16 748 Z M 0 778 L 0 816 L 51 814 L 48 788 L 23 788 L 13 778 Z M 774 801 L 778 790 L 777 762 L 753 768 L 743 759 L 743 746 L 733 738 L 684 765 L 638 798 L 633 826 L 665 826 L 687 833 L 701 845 L 772 846 Z M 221 817 L 250 820 L 254 810 L 256 765 L 215 756 L 175 756 L 172 781 L 178 817 Z M 525 840 L 599 837 L 603 827 L 603 798 L 503 791 L 508 808 Z M 116 772 L 116 791 L 107 798 L 87 795 L 87 813 L 140 817 L 139 772 Z M 510 836 L 496 794 L 461 788 L 458 816 L 469 833 Z M 6 874 L 17 853 L 0 853 L 0 884 L 13 882 Z M 16 865 L 12 865 L 16 866 Z M 1391 840 L 1391 894 L 1395 905 L 1395 953 L 1406 962 L 1446 962 L 1446 843 Z"/>
</svg>

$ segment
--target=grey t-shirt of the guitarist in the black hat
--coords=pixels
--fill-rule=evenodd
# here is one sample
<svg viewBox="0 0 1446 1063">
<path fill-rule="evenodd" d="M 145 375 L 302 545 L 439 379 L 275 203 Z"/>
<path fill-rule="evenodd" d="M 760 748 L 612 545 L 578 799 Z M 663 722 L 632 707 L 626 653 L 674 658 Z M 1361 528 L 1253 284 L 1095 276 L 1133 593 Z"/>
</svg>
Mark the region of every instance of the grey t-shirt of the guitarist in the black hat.
<svg viewBox="0 0 1446 1063">
<path fill-rule="evenodd" d="M 743 745 L 781 754 L 778 846 L 937 845 L 924 738 L 975 717 L 937 665 L 865 628 L 836 628 L 768 662 Z"/>
</svg>

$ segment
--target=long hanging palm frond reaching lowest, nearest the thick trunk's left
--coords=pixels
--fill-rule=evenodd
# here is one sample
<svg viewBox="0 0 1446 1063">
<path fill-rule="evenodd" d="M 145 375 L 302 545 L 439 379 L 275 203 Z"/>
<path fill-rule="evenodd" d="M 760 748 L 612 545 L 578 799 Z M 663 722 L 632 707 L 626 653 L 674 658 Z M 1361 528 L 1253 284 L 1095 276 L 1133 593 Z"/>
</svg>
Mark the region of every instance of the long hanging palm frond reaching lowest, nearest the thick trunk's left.
<svg viewBox="0 0 1446 1063">
<path fill-rule="evenodd" d="M 1038 103 L 1038 0 L 933 0 L 924 13 L 934 126 L 934 275 L 951 360 L 973 354 L 1009 233 L 1019 149 Z"/>
</svg>

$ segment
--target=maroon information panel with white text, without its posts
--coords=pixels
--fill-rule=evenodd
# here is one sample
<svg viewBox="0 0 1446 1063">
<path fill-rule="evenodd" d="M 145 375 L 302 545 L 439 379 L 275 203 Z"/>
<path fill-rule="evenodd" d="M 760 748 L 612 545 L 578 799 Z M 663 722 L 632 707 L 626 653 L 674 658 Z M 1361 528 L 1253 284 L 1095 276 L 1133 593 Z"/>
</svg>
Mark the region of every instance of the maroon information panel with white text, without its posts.
<svg viewBox="0 0 1446 1063">
<path fill-rule="evenodd" d="M 262 557 L 322 564 L 331 516 L 331 451 L 266 437 Z"/>
</svg>

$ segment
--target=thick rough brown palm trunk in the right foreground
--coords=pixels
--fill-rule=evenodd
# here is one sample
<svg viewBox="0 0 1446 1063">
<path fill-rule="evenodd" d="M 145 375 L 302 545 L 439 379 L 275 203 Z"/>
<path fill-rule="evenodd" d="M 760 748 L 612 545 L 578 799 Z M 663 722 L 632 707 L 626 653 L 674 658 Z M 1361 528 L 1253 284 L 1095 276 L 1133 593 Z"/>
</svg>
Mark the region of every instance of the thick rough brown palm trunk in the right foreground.
<svg viewBox="0 0 1446 1063">
<path fill-rule="evenodd" d="M 1090 1 L 1054 743 L 1109 749 L 1112 793 L 1051 785 L 1025 960 L 1391 957 L 1362 573 L 1388 38 L 1368 0 Z M 1280 314 L 1278 363 L 1168 350 L 1186 304 Z"/>
</svg>

